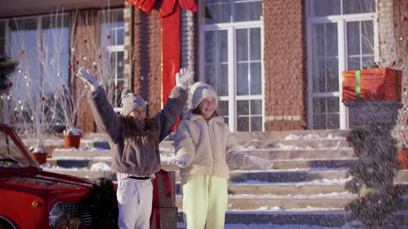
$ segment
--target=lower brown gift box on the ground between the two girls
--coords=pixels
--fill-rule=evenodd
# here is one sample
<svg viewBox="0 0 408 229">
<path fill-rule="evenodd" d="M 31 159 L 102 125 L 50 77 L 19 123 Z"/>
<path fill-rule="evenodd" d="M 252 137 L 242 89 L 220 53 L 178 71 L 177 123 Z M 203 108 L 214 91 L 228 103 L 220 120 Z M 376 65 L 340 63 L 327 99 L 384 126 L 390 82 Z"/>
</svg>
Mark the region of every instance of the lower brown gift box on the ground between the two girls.
<svg viewBox="0 0 408 229">
<path fill-rule="evenodd" d="M 160 229 L 177 229 L 178 214 L 176 207 L 160 207 Z M 150 223 L 151 229 L 158 229 L 156 210 L 153 210 L 152 220 Z"/>
</svg>

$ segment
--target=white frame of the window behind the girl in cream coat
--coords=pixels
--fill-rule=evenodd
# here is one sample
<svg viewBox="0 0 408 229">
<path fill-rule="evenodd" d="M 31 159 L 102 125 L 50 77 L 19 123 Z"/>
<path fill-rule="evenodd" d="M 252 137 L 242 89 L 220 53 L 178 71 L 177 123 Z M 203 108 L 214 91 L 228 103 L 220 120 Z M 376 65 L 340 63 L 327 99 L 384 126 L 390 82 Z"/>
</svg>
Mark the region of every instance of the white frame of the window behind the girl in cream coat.
<svg viewBox="0 0 408 229">
<path fill-rule="evenodd" d="M 200 12 L 202 5 L 200 4 Z M 237 131 L 237 101 L 239 100 L 254 100 L 261 99 L 262 104 L 262 131 L 265 131 L 265 77 L 264 77 L 264 66 L 263 66 L 263 18 L 259 21 L 243 21 L 243 22 L 231 22 L 231 23 L 216 23 L 216 24 L 203 24 L 201 16 L 200 26 L 199 26 L 199 36 L 200 36 L 200 57 L 199 57 L 199 69 L 200 69 L 200 81 L 204 81 L 204 32 L 207 31 L 218 31 L 226 30 L 228 33 L 228 96 L 221 96 L 219 100 L 229 101 L 228 102 L 228 126 L 232 132 Z M 237 62 L 237 50 L 236 47 L 236 38 L 235 30 L 238 29 L 248 29 L 248 28 L 260 28 L 261 30 L 261 94 L 259 95 L 236 95 L 237 94 L 237 66 L 234 64 Z M 230 83 L 232 82 L 232 83 Z M 250 111 L 249 111 L 250 112 Z M 249 115 L 251 117 L 251 115 Z M 250 120 L 249 120 L 250 121 Z M 249 123 L 250 125 L 250 123 Z"/>
</svg>

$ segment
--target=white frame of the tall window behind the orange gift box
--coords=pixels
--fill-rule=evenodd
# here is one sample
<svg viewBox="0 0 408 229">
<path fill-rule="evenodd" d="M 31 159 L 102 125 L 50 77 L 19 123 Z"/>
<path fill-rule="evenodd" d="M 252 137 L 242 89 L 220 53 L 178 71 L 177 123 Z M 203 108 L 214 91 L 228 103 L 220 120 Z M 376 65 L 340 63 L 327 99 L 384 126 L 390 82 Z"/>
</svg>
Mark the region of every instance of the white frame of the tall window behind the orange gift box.
<svg viewBox="0 0 408 229">
<path fill-rule="evenodd" d="M 378 10 L 362 14 L 342 14 L 328 17 L 309 17 L 309 1 L 306 1 L 306 32 L 307 32 L 307 52 L 308 52 L 308 127 L 313 129 L 313 98 L 315 97 L 338 97 L 340 104 L 340 129 L 349 128 L 349 111 L 342 103 L 342 72 L 347 68 L 347 33 L 346 23 L 350 21 L 373 21 L 374 36 L 374 59 L 379 59 L 378 44 Z M 376 8 L 378 6 L 375 6 Z M 313 92 L 313 61 L 312 61 L 312 25 L 317 23 L 337 23 L 337 50 L 339 66 L 339 90 L 338 92 Z M 361 34 L 360 34 L 361 36 Z"/>
</svg>

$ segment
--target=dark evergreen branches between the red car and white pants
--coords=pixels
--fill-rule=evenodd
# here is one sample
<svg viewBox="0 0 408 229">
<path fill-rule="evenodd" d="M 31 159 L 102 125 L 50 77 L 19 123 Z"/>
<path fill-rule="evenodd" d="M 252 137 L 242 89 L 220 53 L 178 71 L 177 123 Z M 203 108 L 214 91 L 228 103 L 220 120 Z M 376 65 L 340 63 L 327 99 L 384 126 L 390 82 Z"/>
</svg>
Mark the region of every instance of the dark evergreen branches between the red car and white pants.
<svg viewBox="0 0 408 229">
<path fill-rule="evenodd" d="M 100 179 L 100 184 L 93 185 L 89 203 L 93 228 L 118 228 L 118 201 L 113 182 Z"/>
</svg>

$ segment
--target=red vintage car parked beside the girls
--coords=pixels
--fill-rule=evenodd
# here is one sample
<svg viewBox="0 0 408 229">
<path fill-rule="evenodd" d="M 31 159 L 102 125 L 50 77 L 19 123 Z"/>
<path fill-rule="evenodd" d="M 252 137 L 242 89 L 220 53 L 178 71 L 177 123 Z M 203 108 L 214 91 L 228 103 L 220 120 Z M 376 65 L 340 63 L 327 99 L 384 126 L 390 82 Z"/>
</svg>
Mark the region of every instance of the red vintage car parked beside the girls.
<svg viewBox="0 0 408 229">
<path fill-rule="evenodd" d="M 95 183 L 45 172 L 14 130 L 0 123 L 0 228 L 55 228 L 57 218 L 67 214 L 80 220 L 80 228 L 89 228 L 85 199 Z"/>
</svg>

